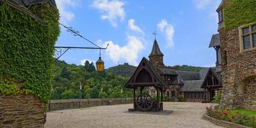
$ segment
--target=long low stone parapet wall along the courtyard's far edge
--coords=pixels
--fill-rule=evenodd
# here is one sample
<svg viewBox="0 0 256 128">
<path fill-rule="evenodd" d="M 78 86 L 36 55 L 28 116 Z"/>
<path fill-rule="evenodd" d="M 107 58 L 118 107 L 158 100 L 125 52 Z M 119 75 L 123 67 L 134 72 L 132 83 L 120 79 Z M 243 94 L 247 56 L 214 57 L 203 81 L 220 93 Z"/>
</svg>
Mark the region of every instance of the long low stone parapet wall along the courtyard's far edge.
<svg viewBox="0 0 256 128">
<path fill-rule="evenodd" d="M 116 104 L 131 104 L 132 98 L 124 99 L 70 99 L 70 100 L 51 100 L 48 104 L 48 111 L 61 109 L 88 108 L 93 106 L 108 106 Z"/>
</svg>

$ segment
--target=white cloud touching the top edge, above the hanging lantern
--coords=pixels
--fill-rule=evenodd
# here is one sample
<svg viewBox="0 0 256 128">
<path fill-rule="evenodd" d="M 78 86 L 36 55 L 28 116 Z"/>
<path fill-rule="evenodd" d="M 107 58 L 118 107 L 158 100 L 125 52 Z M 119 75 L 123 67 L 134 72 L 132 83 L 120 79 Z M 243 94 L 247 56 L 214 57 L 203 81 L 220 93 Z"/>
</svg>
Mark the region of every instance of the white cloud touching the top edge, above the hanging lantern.
<svg viewBox="0 0 256 128">
<path fill-rule="evenodd" d="M 94 0 L 92 7 L 103 13 L 101 19 L 109 20 L 112 26 L 117 27 L 117 19 L 124 20 L 124 3 L 119 0 Z"/>
</svg>

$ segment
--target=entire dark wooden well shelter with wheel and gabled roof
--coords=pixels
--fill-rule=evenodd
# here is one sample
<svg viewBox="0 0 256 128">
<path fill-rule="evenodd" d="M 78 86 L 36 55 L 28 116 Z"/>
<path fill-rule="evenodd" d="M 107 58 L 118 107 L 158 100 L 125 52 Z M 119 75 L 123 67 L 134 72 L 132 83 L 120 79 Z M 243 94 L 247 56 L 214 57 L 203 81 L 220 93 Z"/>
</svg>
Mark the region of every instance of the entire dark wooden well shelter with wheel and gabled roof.
<svg viewBox="0 0 256 128">
<path fill-rule="evenodd" d="M 138 65 L 132 77 L 125 84 L 125 88 L 133 89 L 133 111 L 163 110 L 163 88 L 165 85 L 157 69 L 146 58 L 142 58 L 140 65 Z M 143 93 L 144 87 L 148 86 L 153 86 L 156 89 L 157 99 L 155 101 L 149 93 Z M 138 88 L 140 88 L 140 93 L 136 92 Z M 138 93 L 138 97 L 136 93 Z M 159 99 L 160 94 L 161 99 Z"/>
</svg>

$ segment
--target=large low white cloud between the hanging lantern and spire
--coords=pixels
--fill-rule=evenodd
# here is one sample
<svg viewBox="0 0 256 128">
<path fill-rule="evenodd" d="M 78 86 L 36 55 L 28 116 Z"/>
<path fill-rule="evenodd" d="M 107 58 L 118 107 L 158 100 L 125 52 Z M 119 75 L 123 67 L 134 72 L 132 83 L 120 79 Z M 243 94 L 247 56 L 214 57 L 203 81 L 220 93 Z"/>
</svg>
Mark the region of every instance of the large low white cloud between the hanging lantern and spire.
<svg viewBox="0 0 256 128">
<path fill-rule="evenodd" d="M 113 60 L 115 63 L 118 60 L 124 60 L 132 65 L 137 65 L 136 62 L 139 52 L 143 49 L 142 39 L 136 36 L 128 36 L 127 44 L 120 46 L 114 44 L 112 41 L 105 42 L 104 46 L 109 44 L 106 54 Z"/>
</svg>

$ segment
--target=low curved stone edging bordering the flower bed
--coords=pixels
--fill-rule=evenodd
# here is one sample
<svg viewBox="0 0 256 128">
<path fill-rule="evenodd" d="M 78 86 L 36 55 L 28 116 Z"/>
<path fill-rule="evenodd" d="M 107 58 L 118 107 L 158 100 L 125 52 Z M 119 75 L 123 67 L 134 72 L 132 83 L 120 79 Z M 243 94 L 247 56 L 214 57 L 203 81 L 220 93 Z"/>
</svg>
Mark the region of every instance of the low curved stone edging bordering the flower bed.
<svg viewBox="0 0 256 128">
<path fill-rule="evenodd" d="M 247 127 L 247 126 L 240 125 L 240 124 L 234 124 L 232 122 L 217 120 L 216 118 L 212 118 L 211 116 L 208 116 L 207 113 L 204 113 L 203 118 L 204 118 L 204 120 L 207 120 L 207 121 L 211 122 L 212 124 L 220 125 L 220 126 L 223 126 L 223 127 L 228 127 L 228 128 L 252 128 L 252 127 Z"/>
</svg>

